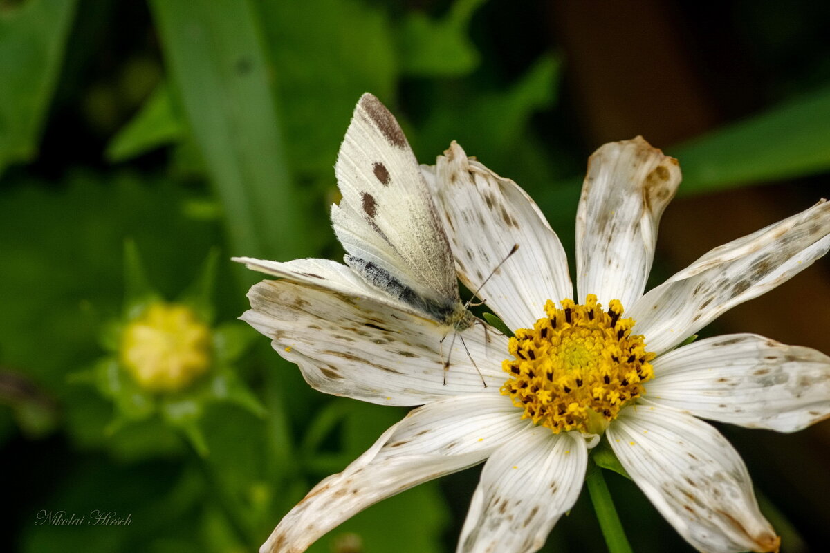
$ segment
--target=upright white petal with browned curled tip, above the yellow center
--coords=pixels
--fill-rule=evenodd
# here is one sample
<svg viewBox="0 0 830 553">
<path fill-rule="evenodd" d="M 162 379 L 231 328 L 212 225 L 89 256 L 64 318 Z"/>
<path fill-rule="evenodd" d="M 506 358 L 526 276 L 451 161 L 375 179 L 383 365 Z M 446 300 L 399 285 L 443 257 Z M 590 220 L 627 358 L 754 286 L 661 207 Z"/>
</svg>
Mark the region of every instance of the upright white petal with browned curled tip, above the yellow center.
<svg viewBox="0 0 830 553">
<path fill-rule="evenodd" d="M 646 288 L 657 225 L 680 184 L 680 166 L 642 137 L 588 158 L 576 216 L 579 302 L 589 293 L 629 308 Z"/>
</svg>

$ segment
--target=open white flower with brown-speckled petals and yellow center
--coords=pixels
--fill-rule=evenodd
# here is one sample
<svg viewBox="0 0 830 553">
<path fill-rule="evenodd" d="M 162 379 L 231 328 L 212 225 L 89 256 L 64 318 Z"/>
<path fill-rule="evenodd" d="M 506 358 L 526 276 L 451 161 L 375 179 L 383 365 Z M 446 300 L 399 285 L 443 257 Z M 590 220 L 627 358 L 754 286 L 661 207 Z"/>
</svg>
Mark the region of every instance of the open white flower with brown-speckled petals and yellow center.
<svg viewBox="0 0 830 553">
<path fill-rule="evenodd" d="M 446 329 L 369 299 L 377 293 L 344 265 L 295 260 L 281 271 L 296 278 L 256 284 L 243 318 L 311 386 L 422 405 L 315 486 L 261 551 L 305 551 L 374 502 L 484 460 L 457 551 L 538 551 L 579 497 L 603 433 L 692 546 L 777 550 L 745 464 L 696 417 L 803 429 L 830 415 L 830 358 L 753 334 L 676 346 L 824 255 L 830 204 L 715 248 L 644 294 L 680 169 L 642 138 L 606 144 L 589 160 L 579 204 L 576 298 L 585 303 L 576 305 L 562 245 L 515 182 L 456 143 L 423 171 L 469 289 L 520 245 L 479 293 L 517 338 L 481 325 L 464 331 L 469 356 L 456 347 L 445 385 Z"/>
</svg>

